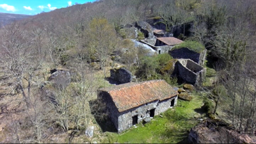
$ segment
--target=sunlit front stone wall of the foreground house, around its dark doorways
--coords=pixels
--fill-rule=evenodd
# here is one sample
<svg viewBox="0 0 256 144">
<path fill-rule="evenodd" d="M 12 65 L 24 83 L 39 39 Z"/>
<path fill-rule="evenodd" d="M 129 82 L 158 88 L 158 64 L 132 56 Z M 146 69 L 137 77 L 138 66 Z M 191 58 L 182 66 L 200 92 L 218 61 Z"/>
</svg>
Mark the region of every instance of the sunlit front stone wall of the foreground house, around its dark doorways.
<svg viewBox="0 0 256 144">
<path fill-rule="evenodd" d="M 118 130 L 118 132 L 122 132 L 125 129 L 129 129 L 130 127 L 132 127 L 132 116 L 138 115 L 138 123 L 142 122 L 144 118 L 150 117 L 151 109 L 155 109 L 155 115 L 163 113 L 167 109 L 172 108 L 171 102 L 173 99 L 175 100 L 175 106 L 177 104 L 177 96 L 162 101 L 154 100 L 152 102 L 148 102 L 147 104 L 143 104 L 136 108 L 119 113 L 118 127 L 116 127 L 116 129 Z"/>
</svg>

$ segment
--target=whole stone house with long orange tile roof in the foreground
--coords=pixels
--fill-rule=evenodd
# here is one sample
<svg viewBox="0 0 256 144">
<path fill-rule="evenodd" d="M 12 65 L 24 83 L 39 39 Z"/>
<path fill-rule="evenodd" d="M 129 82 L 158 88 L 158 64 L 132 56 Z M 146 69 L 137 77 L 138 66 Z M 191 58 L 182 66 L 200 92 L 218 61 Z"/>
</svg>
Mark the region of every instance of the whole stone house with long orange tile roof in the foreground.
<svg viewBox="0 0 256 144">
<path fill-rule="evenodd" d="M 101 88 L 98 99 L 106 102 L 109 118 L 122 132 L 175 106 L 178 94 L 166 81 L 152 80 Z"/>
</svg>

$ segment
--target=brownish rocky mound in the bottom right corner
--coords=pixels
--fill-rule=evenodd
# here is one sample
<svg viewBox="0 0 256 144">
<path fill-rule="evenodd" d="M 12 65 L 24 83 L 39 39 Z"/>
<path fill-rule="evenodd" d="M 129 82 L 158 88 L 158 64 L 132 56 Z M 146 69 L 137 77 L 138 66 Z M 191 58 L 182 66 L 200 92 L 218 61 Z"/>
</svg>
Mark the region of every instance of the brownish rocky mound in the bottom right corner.
<svg viewBox="0 0 256 144">
<path fill-rule="evenodd" d="M 207 119 L 189 132 L 189 143 L 253 143 L 247 134 L 239 134 L 232 125 Z"/>
</svg>

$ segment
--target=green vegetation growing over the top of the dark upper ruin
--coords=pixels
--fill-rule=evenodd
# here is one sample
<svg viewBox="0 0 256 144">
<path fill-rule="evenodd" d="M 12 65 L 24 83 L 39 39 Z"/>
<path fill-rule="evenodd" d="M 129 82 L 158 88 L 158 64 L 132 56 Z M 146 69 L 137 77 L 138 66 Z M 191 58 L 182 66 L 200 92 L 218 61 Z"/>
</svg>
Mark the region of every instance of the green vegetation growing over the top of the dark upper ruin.
<svg viewBox="0 0 256 144">
<path fill-rule="evenodd" d="M 204 45 L 200 44 L 199 42 L 193 41 L 193 40 L 185 40 L 184 42 L 173 47 L 172 49 L 180 49 L 182 47 L 188 47 L 192 51 L 195 51 L 198 53 L 204 51 L 204 49 L 205 49 Z"/>
</svg>

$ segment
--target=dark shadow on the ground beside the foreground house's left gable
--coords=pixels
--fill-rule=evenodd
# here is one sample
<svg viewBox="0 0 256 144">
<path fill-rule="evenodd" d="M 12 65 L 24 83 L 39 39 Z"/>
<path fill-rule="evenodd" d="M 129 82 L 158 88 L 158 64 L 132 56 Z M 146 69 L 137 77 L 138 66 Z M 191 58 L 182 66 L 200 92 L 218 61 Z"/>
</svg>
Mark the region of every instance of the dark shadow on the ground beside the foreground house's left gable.
<svg viewBox="0 0 256 144">
<path fill-rule="evenodd" d="M 106 109 L 100 109 L 100 104 L 97 99 L 89 101 L 91 113 L 95 118 L 97 124 L 99 124 L 102 132 L 117 132 L 115 125 L 106 115 Z"/>
</svg>

